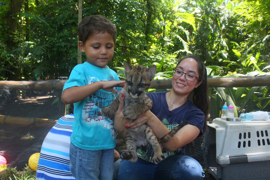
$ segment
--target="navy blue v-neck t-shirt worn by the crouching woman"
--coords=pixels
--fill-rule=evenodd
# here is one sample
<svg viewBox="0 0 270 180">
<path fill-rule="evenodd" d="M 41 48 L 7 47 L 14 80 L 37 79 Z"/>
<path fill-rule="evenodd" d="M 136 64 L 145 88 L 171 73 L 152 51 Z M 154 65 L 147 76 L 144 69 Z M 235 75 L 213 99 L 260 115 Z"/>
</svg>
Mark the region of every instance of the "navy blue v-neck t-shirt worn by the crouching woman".
<svg viewBox="0 0 270 180">
<path fill-rule="evenodd" d="M 169 110 L 167 101 L 166 101 L 166 92 L 157 92 L 157 93 L 147 93 L 147 96 L 153 101 L 153 106 L 150 109 L 154 115 L 170 130 L 175 128 L 178 124 L 183 123 L 184 121 L 189 121 L 190 125 L 197 126 L 200 129 L 201 136 L 203 135 L 203 126 L 204 126 L 204 114 L 197 108 L 190 99 L 181 105 L 180 107 Z M 137 154 L 140 158 L 151 162 L 154 152 L 152 146 L 148 144 L 147 146 L 141 146 L 137 149 Z M 185 154 L 185 146 L 175 152 L 169 152 L 165 149 L 163 150 L 165 157 L 174 155 L 174 154 Z"/>
</svg>

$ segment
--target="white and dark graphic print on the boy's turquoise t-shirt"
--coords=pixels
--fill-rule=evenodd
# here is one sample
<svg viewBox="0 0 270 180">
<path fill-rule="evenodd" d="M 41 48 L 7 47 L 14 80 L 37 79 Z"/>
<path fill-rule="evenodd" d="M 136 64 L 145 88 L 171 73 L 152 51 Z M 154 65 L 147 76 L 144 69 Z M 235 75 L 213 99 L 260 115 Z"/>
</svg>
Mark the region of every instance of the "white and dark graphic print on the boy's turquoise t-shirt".
<svg viewBox="0 0 270 180">
<path fill-rule="evenodd" d="M 93 84 L 97 81 L 114 81 L 114 77 L 110 77 L 108 80 L 99 80 L 95 77 L 87 76 L 86 80 L 87 84 Z M 103 107 L 112 103 L 115 97 L 115 93 L 103 89 L 99 89 L 87 97 L 82 109 L 82 121 L 87 126 L 100 126 L 104 129 L 114 130 L 112 119 L 103 117 L 100 112 Z"/>
</svg>

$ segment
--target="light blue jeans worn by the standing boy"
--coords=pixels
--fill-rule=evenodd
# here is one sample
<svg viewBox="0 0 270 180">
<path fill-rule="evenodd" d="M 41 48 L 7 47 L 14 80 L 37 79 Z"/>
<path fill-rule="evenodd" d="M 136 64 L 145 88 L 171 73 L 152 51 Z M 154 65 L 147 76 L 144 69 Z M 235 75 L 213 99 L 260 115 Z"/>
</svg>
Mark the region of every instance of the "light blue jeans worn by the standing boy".
<svg viewBox="0 0 270 180">
<path fill-rule="evenodd" d="M 69 169 L 76 180 L 113 179 L 113 148 L 90 151 L 70 143 L 69 157 Z"/>
</svg>

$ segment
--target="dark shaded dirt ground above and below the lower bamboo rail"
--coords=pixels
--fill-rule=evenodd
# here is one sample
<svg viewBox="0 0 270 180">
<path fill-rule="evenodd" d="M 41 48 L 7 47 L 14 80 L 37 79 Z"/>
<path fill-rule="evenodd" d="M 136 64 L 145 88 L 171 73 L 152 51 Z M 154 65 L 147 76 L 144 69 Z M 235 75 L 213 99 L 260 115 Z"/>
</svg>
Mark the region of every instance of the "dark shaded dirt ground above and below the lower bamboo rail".
<svg viewBox="0 0 270 180">
<path fill-rule="evenodd" d="M 50 92 L 51 93 L 51 92 Z M 14 91 L 1 94 L 0 115 L 58 119 L 57 97 L 49 92 L 28 91 L 18 94 Z M 0 155 L 7 164 L 23 169 L 29 157 L 40 152 L 42 142 L 50 128 L 35 128 L 18 125 L 0 125 Z"/>
</svg>

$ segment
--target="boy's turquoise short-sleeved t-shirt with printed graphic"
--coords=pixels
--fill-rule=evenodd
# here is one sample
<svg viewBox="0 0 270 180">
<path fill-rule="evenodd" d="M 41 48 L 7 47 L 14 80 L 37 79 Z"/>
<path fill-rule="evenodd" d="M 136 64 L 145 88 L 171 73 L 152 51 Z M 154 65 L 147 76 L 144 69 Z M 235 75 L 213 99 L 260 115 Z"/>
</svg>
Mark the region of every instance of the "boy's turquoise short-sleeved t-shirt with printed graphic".
<svg viewBox="0 0 270 180">
<path fill-rule="evenodd" d="M 63 91 L 73 86 L 84 86 L 97 81 L 120 81 L 116 72 L 88 62 L 76 65 Z M 119 91 L 121 88 L 117 88 Z M 74 103 L 73 132 L 70 142 L 86 150 L 111 149 L 116 145 L 113 119 L 103 117 L 101 109 L 112 103 L 117 94 L 99 89 L 86 99 Z"/>
</svg>

